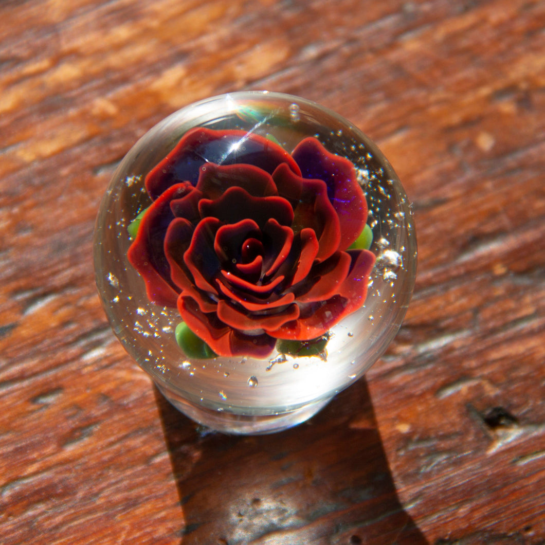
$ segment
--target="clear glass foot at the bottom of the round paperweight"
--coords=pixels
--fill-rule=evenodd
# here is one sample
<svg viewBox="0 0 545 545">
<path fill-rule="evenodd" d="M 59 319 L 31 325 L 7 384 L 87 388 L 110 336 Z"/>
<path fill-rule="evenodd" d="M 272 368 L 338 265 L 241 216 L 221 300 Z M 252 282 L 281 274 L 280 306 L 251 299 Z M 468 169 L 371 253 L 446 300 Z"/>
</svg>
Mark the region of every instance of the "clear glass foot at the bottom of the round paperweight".
<svg viewBox="0 0 545 545">
<path fill-rule="evenodd" d="M 230 413 L 227 410 L 213 410 L 187 401 L 174 392 L 156 384 L 159 391 L 181 413 L 191 420 L 216 432 L 233 435 L 265 435 L 281 432 L 305 422 L 322 410 L 333 397 L 308 403 L 295 410 L 269 415 Z"/>
</svg>

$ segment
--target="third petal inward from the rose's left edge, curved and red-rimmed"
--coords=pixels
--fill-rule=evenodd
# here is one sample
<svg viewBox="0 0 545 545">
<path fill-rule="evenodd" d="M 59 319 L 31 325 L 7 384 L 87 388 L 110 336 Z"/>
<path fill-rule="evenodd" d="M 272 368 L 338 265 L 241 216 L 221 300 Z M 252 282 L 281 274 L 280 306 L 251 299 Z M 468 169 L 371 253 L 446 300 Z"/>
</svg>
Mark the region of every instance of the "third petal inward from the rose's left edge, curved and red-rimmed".
<svg viewBox="0 0 545 545">
<path fill-rule="evenodd" d="M 221 271 L 221 263 L 214 251 L 216 233 L 221 222 L 215 217 L 202 220 L 193 232 L 191 244 L 184 253 L 184 262 L 195 280 L 195 285 L 208 292 L 216 292 L 214 278 Z"/>
</svg>

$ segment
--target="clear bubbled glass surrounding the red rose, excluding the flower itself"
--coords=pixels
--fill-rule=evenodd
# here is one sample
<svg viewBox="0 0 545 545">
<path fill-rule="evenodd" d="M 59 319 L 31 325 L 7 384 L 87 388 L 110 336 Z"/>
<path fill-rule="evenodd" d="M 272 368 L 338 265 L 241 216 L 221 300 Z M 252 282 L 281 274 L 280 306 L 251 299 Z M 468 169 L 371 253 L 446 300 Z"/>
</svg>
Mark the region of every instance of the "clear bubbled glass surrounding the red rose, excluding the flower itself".
<svg viewBox="0 0 545 545">
<path fill-rule="evenodd" d="M 197 357 L 177 341 L 178 308 L 151 302 L 128 251 L 135 219 L 152 204 L 146 177 L 197 127 L 259 135 L 288 154 L 307 137 L 348 159 L 367 200 L 376 263 L 364 304 L 310 348 L 278 342 L 266 357 Z M 240 145 L 244 145 L 241 138 Z M 203 157 L 203 165 L 209 158 Z M 214 156 L 215 164 L 220 161 Z M 135 227 L 136 226 L 136 227 Z M 378 147 L 346 119 L 296 96 L 239 92 L 175 112 L 147 132 L 120 163 L 102 199 L 94 240 L 95 277 L 113 331 L 177 408 L 228 433 L 270 433 L 306 420 L 362 376 L 396 335 L 416 273 L 411 205 Z M 288 348 L 286 348 L 288 347 Z M 308 349 L 307 349 L 308 348 Z M 211 354 L 211 357 L 210 357 Z"/>
</svg>

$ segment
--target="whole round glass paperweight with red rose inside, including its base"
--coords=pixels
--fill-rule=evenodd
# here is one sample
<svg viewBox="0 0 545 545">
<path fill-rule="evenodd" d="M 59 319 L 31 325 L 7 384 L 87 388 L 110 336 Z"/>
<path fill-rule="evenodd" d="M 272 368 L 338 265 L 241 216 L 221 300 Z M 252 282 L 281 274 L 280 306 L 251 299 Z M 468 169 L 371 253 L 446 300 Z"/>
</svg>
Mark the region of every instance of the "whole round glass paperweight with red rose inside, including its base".
<svg viewBox="0 0 545 545">
<path fill-rule="evenodd" d="M 396 335 L 411 205 L 378 147 L 305 99 L 239 92 L 144 135 L 96 219 L 113 331 L 169 401 L 225 433 L 305 421 Z"/>
</svg>

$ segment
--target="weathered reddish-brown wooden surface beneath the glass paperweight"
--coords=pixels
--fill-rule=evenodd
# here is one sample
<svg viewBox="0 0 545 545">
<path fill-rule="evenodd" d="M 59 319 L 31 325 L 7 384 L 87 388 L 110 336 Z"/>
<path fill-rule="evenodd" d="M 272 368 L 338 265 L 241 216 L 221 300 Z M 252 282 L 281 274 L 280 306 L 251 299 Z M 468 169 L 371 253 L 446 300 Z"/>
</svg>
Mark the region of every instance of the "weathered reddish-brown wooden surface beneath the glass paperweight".
<svg viewBox="0 0 545 545">
<path fill-rule="evenodd" d="M 545 543 L 545 2 L 0 3 L 0 543 Z M 366 380 L 205 433 L 114 338 L 93 222 L 152 125 L 239 89 L 375 140 L 419 276 Z"/>
</svg>

